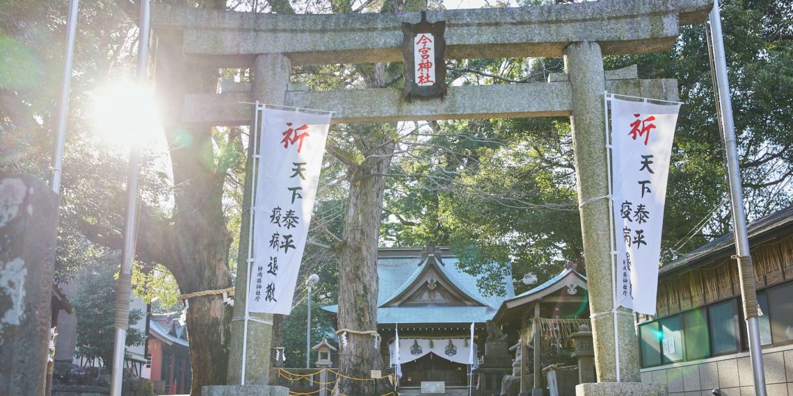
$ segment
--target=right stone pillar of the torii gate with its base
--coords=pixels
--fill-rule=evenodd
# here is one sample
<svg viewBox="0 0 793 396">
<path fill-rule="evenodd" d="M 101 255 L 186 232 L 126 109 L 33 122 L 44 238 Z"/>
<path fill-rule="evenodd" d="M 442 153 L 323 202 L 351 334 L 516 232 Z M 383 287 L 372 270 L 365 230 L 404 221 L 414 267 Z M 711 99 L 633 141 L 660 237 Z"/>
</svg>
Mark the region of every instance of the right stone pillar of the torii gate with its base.
<svg viewBox="0 0 793 396">
<path fill-rule="evenodd" d="M 598 383 L 576 386 L 576 394 L 666 394 L 666 387 L 661 384 L 641 383 L 633 311 L 620 310 L 624 314 L 612 311 L 614 275 L 611 272 L 612 232 L 607 199 L 609 164 L 603 109 L 606 81 L 600 44 L 592 41 L 569 44 L 565 47 L 565 70 L 573 88 L 570 124 L 598 380 Z"/>
</svg>

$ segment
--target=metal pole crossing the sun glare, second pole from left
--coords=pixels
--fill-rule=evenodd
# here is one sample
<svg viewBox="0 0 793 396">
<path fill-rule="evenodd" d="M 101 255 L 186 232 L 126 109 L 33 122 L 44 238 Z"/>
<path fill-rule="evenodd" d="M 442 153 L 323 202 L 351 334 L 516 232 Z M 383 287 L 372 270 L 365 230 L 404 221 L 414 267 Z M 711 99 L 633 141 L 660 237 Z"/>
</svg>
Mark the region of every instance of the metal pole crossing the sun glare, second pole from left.
<svg viewBox="0 0 793 396">
<path fill-rule="evenodd" d="M 144 86 L 148 59 L 149 0 L 140 1 L 140 32 L 138 33 L 138 64 L 136 82 Z M 138 173 L 140 169 L 140 146 L 133 139 L 129 149 L 129 171 L 127 179 L 127 214 L 124 223 L 124 250 L 121 272 L 118 275 L 116 292 L 116 333 L 113 344 L 113 371 L 110 377 L 110 394 L 121 395 L 122 369 L 129 320 L 129 300 L 132 295 L 132 260 L 135 257 L 135 219 L 138 201 Z"/>
</svg>

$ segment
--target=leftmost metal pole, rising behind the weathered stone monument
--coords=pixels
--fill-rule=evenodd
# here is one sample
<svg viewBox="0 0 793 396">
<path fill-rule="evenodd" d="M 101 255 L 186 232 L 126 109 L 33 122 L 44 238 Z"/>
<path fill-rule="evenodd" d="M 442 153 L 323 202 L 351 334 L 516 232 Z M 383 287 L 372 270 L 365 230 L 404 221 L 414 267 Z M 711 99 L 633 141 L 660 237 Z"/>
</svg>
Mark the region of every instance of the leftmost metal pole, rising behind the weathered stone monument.
<svg viewBox="0 0 793 396">
<path fill-rule="evenodd" d="M 63 65 L 63 86 L 60 91 L 60 107 L 58 109 L 58 135 L 56 136 L 55 154 L 52 157 L 52 180 L 50 181 L 50 187 L 56 194 L 60 194 L 60 170 L 63 168 L 63 145 L 66 142 L 66 119 L 69 112 L 69 92 L 71 90 L 71 63 L 75 58 L 78 6 L 79 0 L 69 2 L 69 16 L 66 25 L 66 62 Z"/>
</svg>

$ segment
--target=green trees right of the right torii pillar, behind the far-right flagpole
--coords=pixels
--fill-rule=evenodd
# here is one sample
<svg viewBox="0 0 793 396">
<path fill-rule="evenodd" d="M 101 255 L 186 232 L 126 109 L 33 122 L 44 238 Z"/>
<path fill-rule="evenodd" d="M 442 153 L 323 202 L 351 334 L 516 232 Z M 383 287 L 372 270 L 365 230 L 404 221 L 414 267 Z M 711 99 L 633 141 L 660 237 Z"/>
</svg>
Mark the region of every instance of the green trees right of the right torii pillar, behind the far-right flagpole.
<svg viewBox="0 0 793 396">
<path fill-rule="evenodd" d="M 722 2 L 722 28 L 738 157 L 749 221 L 793 203 L 793 5 Z M 676 78 L 680 119 L 672 148 L 662 249 L 666 261 L 731 227 L 724 151 L 718 132 L 707 25 L 683 29 L 670 51 L 610 57 L 607 68 L 637 63 L 642 78 Z"/>
</svg>

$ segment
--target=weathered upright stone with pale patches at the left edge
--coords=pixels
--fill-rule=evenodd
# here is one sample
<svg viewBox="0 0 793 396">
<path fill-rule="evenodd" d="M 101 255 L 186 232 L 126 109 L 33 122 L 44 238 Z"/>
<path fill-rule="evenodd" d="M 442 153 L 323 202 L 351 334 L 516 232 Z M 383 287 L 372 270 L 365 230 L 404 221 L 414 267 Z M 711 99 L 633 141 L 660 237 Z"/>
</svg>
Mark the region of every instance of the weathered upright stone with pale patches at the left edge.
<svg viewBox="0 0 793 396">
<path fill-rule="evenodd" d="M 44 394 L 59 197 L 0 175 L 0 394 Z"/>
</svg>

